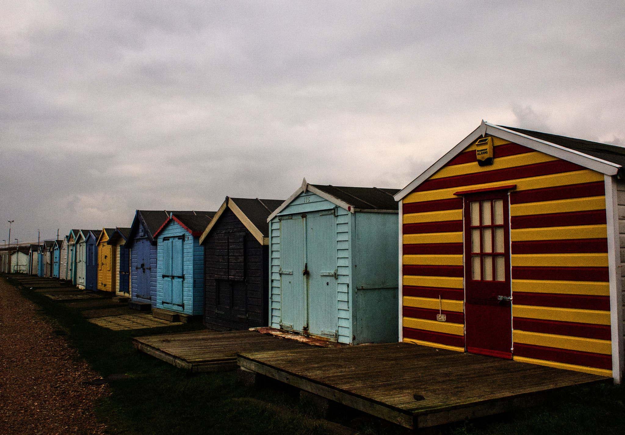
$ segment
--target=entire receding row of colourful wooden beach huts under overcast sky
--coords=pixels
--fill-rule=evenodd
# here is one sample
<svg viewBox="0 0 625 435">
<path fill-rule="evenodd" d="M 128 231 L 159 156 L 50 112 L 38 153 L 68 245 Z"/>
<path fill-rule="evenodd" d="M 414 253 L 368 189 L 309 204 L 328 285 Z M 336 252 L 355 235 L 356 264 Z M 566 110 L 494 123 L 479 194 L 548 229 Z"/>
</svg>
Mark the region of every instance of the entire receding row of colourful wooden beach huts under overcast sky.
<svg viewBox="0 0 625 435">
<path fill-rule="evenodd" d="M 625 148 L 482 121 L 403 189 L 304 179 L 286 200 L 137 210 L 129 228 L 73 229 L 1 266 L 221 331 L 412 342 L 620 382 L 624 166 Z"/>
</svg>

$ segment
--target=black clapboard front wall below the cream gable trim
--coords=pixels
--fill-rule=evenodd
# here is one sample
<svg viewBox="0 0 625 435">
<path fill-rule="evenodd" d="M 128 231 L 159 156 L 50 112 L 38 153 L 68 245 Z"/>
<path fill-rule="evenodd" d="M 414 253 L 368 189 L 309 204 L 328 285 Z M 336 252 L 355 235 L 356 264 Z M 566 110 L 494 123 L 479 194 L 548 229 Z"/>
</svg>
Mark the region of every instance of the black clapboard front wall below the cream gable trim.
<svg viewBox="0 0 625 435">
<path fill-rule="evenodd" d="M 227 264 L 222 260 L 223 249 L 218 246 L 219 240 L 229 234 L 244 234 L 244 251 L 241 251 L 244 265 L 243 280 L 223 280 L 216 276 L 227 275 Z M 269 248 L 262 246 L 234 212 L 227 207 L 219 216 L 211 233 L 204 240 L 205 259 L 205 294 L 204 324 L 213 329 L 231 330 L 248 327 L 267 326 L 267 301 L 269 286 L 267 271 L 269 269 Z M 226 253 L 227 255 L 227 253 Z M 219 306 L 217 301 L 217 284 L 229 282 L 234 286 L 233 306 Z M 235 309 L 234 307 L 237 307 Z M 222 314 L 223 313 L 223 314 Z"/>
</svg>

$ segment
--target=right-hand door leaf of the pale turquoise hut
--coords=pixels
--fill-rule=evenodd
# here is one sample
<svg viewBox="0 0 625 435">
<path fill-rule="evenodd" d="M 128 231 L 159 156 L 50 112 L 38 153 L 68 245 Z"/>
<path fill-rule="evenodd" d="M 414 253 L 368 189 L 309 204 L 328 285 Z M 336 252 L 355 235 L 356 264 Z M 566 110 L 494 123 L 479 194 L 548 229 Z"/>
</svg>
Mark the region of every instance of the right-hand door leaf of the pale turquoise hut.
<svg viewBox="0 0 625 435">
<path fill-rule="evenodd" d="M 336 340 L 336 217 L 333 209 L 307 213 L 305 266 L 308 272 L 308 331 Z"/>
</svg>

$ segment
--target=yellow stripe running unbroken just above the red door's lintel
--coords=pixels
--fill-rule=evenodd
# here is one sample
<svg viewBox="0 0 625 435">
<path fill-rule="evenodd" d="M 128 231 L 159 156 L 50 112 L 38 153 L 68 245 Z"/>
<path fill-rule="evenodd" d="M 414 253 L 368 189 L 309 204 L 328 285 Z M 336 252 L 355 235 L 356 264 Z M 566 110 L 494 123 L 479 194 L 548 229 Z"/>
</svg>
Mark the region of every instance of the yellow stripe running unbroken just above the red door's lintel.
<svg viewBox="0 0 625 435">
<path fill-rule="evenodd" d="M 414 192 L 404 198 L 404 204 L 408 202 L 434 201 L 435 199 L 455 198 L 454 192 L 467 191 L 473 189 L 486 189 L 487 187 L 506 186 L 516 184 L 516 190 L 542 189 L 543 187 L 567 186 L 568 184 L 591 183 L 592 181 L 603 181 L 603 174 L 582 169 L 581 171 L 571 171 L 567 173 L 539 175 L 529 178 L 516 178 L 511 180 L 494 181 L 492 183 L 471 184 L 469 186 L 448 187 L 432 191 Z"/>
</svg>

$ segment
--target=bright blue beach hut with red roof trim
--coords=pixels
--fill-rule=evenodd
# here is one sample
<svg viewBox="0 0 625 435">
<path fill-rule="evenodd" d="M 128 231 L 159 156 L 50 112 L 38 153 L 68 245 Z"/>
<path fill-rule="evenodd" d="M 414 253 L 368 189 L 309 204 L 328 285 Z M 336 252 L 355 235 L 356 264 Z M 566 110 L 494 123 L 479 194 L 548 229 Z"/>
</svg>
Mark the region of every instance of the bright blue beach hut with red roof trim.
<svg viewBox="0 0 625 435">
<path fill-rule="evenodd" d="M 187 316 L 204 313 L 204 246 L 199 237 L 215 211 L 172 212 L 158 238 L 156 307 Z"/>
</svg>

